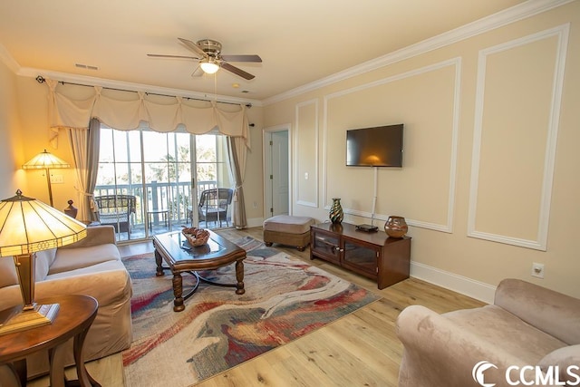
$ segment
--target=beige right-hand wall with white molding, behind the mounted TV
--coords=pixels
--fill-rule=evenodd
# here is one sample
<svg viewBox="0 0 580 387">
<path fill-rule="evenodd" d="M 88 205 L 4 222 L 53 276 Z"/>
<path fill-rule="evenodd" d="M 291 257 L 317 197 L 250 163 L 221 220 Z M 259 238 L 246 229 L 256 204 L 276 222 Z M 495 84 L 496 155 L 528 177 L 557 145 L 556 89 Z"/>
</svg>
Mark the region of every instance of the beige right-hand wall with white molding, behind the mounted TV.
<svg viewBox="0 0 580 387">
<path fill-rule="evenodd" d="M 345 131 L 404 123 L 375 224 L 407 218 L 412 276 L 487 301 L 505 277 L 580 297 L 579 69 L 573 2 L 267 103 L 264 123 L 292 122 L 294 213 L 325 221 L 338 197 L 354 224 L 370 223 L 374 170 L 344 166 Z"/>
</svg>

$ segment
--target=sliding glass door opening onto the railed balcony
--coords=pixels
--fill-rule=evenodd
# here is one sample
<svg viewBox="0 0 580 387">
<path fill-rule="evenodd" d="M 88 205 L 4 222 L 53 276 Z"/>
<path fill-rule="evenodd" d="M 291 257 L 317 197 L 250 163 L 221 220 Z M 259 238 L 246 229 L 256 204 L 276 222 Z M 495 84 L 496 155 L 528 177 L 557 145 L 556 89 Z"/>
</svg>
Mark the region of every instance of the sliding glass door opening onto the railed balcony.
<svg viewBox="0 0 580 387">
<path fill-rule="evenodd" d="M 102 217 L 107 218 L 102 223 L 113 224 L 118 240 L 142 239 L 185 225 L 198 225 L 201 193 L 206 189 L 230 188 L 225 144 L 226 138 L 215 134 L 160 133 L 148 128 L 116 131 L 102 125 L 94 195 L 113 198 L 126 195 L 135 202 L 135 208 L 129 209 L 129 231 L 121 230 L 118 221 L 125 217 L 127 208 L 117 208 L 117 219 Z M 219 215 L 221 220 L 227 220 L 223 211 Z M 228 225 L 206 220 L 203 219 L 201 227 Z"/>
</svg>

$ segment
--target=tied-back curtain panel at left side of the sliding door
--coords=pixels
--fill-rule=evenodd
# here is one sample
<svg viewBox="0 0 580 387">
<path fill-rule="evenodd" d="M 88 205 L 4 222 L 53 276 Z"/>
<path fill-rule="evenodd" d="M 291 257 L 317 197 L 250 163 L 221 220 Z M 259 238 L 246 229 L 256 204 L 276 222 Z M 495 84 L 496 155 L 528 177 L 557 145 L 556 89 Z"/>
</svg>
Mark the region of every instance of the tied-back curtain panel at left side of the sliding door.
<svg viewBox="0 0 580 387">
<path fill-rule="evenodd" d="M 77 203 L 77 218 L 96 220 L 96 208 L 92 192 L 97 184 L 99 170 L 99 145 L 101 122 L 92 119 L 87 129 L 67 128 L 69 143 L 73 150 L 74 169 L 76 171 L 76 189 L 81 200 Z"/>
</svg>

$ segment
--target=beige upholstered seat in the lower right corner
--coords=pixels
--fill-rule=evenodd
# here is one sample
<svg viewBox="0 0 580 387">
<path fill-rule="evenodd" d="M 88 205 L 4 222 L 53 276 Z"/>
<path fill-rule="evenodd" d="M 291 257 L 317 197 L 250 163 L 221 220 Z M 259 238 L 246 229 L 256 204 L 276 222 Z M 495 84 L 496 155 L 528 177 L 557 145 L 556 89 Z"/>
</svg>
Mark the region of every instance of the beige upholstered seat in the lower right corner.
<svg viewBox="0 0 580 387">
<path fill-rule="evenodd" d="M 580 385 L 580 299 L 525 281 L 502 281 L 494 305 L 480 308 L 411 305 L 396 329 L 401 387 L 536 385 L 537 369 L 545 381 Z"/>
</svg>

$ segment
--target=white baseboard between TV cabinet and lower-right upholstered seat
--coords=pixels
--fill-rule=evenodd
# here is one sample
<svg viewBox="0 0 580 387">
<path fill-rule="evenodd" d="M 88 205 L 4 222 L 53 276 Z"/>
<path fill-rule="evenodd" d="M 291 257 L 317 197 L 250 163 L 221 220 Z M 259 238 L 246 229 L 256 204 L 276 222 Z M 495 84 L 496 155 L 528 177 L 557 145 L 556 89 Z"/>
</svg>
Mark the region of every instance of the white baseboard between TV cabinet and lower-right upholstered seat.
<svg viewBox="0 0 580 387">
<path fill-rule="evenodd" d="M 496 286 L 417 262 L 411 262 L 411 276 L 488 304 L 493 304 L 496 293 Z"/>
</svg>

